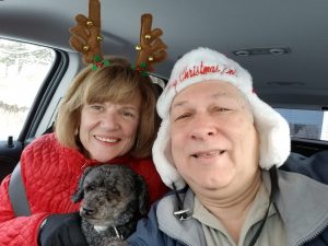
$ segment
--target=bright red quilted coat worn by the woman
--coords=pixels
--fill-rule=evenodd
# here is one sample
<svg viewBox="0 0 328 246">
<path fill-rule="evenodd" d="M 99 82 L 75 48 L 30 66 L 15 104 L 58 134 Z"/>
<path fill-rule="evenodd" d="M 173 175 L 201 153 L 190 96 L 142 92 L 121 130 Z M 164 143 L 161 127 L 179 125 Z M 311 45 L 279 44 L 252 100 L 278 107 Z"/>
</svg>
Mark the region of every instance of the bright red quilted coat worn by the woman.
<svg viewBox="0 0 328 246">
<path fill-rule="evenodd" d="M 167 191 L 150 159 L 124 156 L 110 163 L 127 165 L 144 177 L 150 204 Z M 60 145 L 50 133 L 25 148 L 21 165 L 32 215 L 15 218 L 8 195 L 8 176 L 0 186 L 1 246 L 37 246 L 38 227 L 48 214 L 78 211 L 79 204 L 71 201 L 71 196 L 83 169 L 96 163 Z"/>
</svg>

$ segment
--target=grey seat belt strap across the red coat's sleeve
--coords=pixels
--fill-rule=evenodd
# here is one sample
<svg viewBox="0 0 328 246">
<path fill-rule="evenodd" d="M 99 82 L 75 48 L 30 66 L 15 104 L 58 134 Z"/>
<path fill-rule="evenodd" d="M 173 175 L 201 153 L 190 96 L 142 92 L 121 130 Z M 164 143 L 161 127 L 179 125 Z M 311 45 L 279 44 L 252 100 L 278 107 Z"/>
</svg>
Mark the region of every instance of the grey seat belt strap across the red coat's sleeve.
<svg viewBox="0 0 328 246">
<path fill-rule="evenodd" d="M 9 198 L 16 216 L 31 215 L 31 209 L 24 187 L 21 163 L 19 162 L 13 169 L 9 183 Z"/>
</svg>

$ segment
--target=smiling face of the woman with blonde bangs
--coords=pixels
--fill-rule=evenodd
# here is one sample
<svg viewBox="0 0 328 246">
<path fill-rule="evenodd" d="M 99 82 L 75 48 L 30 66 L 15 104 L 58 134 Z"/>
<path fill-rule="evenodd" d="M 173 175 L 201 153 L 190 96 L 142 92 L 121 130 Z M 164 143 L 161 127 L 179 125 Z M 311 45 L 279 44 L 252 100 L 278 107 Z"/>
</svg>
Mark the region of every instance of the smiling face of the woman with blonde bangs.
<svg viewBox="0 0 328 246">
<path fill-rule="evenodd" d="M 106 162 L 129 152 L 136 142 L 140 99 L 125 104 L 83 105 L 79 137 L 89 157 Z"/>
</svg>

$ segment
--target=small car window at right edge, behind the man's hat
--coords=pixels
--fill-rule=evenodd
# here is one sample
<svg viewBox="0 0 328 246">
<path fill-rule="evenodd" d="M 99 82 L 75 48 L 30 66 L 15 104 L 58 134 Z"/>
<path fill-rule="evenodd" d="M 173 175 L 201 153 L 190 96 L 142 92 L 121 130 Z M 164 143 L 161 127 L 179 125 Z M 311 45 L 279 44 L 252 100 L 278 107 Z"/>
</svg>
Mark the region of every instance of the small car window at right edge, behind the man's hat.
<svg viewBox="0 0 328 246">
<path fill-rule="evenodd" d="M 276 108 L 288 121 L 291 137 L 328 141 L 326 110 Z"/>
</svg>

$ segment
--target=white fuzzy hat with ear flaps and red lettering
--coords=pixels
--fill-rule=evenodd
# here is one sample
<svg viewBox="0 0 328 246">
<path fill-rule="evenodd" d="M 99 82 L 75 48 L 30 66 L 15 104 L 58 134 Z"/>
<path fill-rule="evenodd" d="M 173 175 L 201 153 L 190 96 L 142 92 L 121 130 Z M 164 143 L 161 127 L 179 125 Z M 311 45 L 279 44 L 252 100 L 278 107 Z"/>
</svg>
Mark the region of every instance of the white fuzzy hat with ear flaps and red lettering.
<svg viewBox="0 0 328 246">
<path fill-rule="evenodd" d="M 289 124 L 253 92 L 253 79 L 248 71 L 224 55 L 200 47 L 187 52 L 175 63 L 168 83 L 157 101 L 157 113 L 163 121 L 153 145 L 153 160 L 162 180 L 171 188 L 173 184 L 177 189 L 185 186 L 171 153 L 171 104 L 181 90 L 209 80 L 226 81 L 241 90 L 248 99 L 260 139 L 261 168 L 269 169 L 273 165 L 278 167 L 290 154 Z"/>
</svg>

